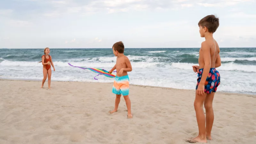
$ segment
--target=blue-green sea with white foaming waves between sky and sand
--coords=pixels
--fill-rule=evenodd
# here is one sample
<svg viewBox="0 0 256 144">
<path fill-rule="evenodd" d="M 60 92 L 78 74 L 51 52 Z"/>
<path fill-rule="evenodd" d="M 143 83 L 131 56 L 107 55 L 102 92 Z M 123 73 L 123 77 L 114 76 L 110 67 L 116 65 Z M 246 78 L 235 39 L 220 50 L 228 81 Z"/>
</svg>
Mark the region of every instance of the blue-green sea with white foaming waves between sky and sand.
<svg viewBox="0 0 256 144">
<path fill-rule="evenodd" d="M 132 64 L 130 84 L 195 90 L 199 48 L 125 48 Z M 44 49 L 0 49 L 0 78 L 42 80 Z M 74 66 L 110 70 L 116 62 L 111 48 L 50 49 L 56 71 L 52 81 L 112 83 L 113 78 Z M 256 48 L 220 48 L 219 92 L 256 94 Z M 53 70 L 53 68 L 52 68 Z M 116 73 L 113 73 L 116 74 Z M 47 83 L 46 83 L 47 84 Z"/>
</svg>

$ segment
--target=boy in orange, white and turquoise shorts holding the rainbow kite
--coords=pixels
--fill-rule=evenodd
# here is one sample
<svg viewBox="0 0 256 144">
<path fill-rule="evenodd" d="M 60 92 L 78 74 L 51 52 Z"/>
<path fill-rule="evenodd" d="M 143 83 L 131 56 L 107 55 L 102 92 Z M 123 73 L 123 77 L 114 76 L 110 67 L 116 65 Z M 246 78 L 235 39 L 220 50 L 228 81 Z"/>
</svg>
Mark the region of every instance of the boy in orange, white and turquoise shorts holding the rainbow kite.
<svg viewBox="0 0 256 144">
<path fill-rule="evenodd" d="M 116 69 L 116 79 L 114 81 L 112 92 L 116 94 L 115 108 L 109 111 L 110 114 L 117 112 L 117 108 L 120 102 L 121 94 L 124 96 L 126 103 L 128 118 L 132 118 L 131 113 L 131 101 L 129 98 L 129 76 L 127 72 L 132 71 L 132 65 L 130 60 L 124 55 L 124 44 L 123 42 L 117 42 L 112 47 L 116 58 L 116 65 L 109 71 L 112 73 Z"/>
</svg>

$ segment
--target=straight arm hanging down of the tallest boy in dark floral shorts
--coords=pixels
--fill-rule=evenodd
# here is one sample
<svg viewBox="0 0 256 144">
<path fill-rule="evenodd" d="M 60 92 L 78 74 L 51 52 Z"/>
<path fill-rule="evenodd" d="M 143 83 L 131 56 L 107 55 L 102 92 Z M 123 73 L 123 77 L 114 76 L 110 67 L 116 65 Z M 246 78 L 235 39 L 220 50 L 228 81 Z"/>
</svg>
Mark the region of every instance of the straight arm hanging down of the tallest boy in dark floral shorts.
<svg viewBox="0 0 256 144">
<path fill-rule="evenodd" d="M 209 45 L 206 43 L 206 42 L 203 42 L 202 43 L 202 52 L 203 52 L 203 56 L 204 56 L 204 71 L 203 71 L 203 74 L 202 74 L 202 78 L 201 78 L 201 81 L 199 83 L 199 88 L 200 89 L 197 89 L 199 90 L 199 95 L 202 95 L 204 94 L 204 83 L 206 81 L 206 78 L 210 72 L 210 68 L 211 68 L 211 53 L 210 53 L 210 47 Z M 202 91 L 202 89 L 203 91 Z"/>
</svg>

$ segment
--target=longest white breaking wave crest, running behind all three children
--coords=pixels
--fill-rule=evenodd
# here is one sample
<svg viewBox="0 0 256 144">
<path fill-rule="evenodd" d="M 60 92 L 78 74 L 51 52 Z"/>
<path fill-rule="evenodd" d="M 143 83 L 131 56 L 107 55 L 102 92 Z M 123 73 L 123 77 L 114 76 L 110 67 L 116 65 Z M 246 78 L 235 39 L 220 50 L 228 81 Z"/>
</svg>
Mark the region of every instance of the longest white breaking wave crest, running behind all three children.
<svg viewBox="0 0 256 144">
<path fill-rule="evenodd" d="M 157 68 L 157 67 L 170 67 L 170 68 L 179 68 L 185 70 L 191 70 L 193 65 L 198 65 L 195 63 L 182 63 L 182 62 L 160 62 L 158 59 L 154 58 L 145 58 L 144 56 L 140 56 L 144 58 L 141 60 L 138 57 L 131 57 L 131 64 L 133 68 Z M 74 66 L 80 67 L 91 67 L 91 68 L 111 68 L 116 64 L 115 57 L 109 58 L 93 58 L 92 61 L 85 60 L 85 61 L 53 61 L 55 67 L 69 67 L 68 63 L 71 63 Z M 140 61 L 136 61 L 139 60 Z M 42 63 L 38 63 L 38 61 L 10 61 L 10 60 L 3 60 L 0 62 L 0 66 L 19 66 L 19 67 L 42 67 Z M 245 72 L 256 72 L 256 65 L 242 65 L 237 64 L 235 62 L 228 62 L 222 63 L 222 65 L 217 68 L 218 70 L 226 70 L 226 71 L 245 71 Z"/>
</svg>

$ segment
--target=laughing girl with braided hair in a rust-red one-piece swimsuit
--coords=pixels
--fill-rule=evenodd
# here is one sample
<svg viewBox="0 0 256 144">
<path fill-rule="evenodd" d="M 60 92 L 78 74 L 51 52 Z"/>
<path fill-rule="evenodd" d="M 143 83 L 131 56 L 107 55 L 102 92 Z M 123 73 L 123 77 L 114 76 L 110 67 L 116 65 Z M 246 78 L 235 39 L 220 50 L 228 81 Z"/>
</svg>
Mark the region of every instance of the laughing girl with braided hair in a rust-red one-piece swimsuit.
<svg viewBox="0 0 256 144">
<path fill-rule="evenodd" d="M 51 76 L 52 76 L 52 69 L 51 69 L 51 65 L 53 67 L 53 71 L 55 71 L 55 68 L 53 66 L 52 63 L 52 57 L 49 55 L 50 53 L 50 49 L 47 47 L 44 49 L 44 55 L 42 56 L 42 64 L 43 64 L 43 74 L 44 74 L 44 79 L 42 82 L 42 86 L 41 88 L 44 87 L 44 82 L 47 78 L 47 74 L 48 74 L 48 88 L 51 88 Z"/>
</svg>

